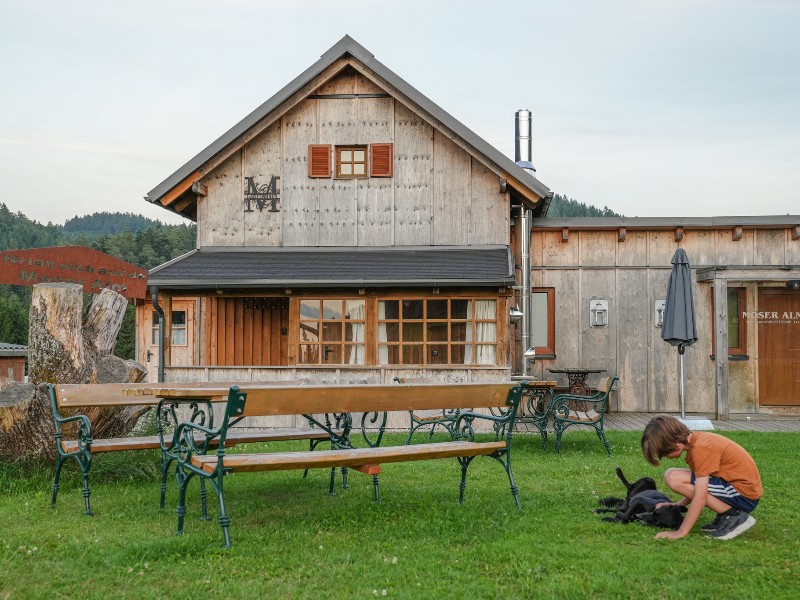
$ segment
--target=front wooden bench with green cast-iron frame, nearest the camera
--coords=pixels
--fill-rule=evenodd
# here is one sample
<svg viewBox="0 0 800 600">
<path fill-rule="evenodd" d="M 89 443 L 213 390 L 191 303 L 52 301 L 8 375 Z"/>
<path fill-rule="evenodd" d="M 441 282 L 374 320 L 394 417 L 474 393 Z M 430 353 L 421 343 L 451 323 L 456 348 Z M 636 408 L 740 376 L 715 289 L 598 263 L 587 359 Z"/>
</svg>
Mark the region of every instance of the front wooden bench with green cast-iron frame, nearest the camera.
<svg viewBox="0 0 800 600">
<path fill-rule="evenodd" d="M 456 458 L 461 466 L 459 502 L 464 502 L 467 469 L 476 456 L 490 456 L 504 468 L 511 485 L 511 494 L 521 508 L 519 489 L 511 470 L 511 441 L 514 418 L 519 407 L 525 383 L 467 383 L 467 384 L 408 384 L 408 385 L 340 385 L 318 387 L 269 387 L 240 389 L 229 392 L 224 417 L 219 427 L 206 427 L 192 422 L 182 422 L 175 430 L 172 448 L 177 461 L 180 485 L 178 500 L 178 533 L 183 533 L 186 515 L 186 489 L 198 477 L 208 480 L 217 493 L 219 525 L 225 547 L 230 547 L 230 518 L 224 497 L 223 478 L 229 473 L 350 467 L 369 469 L 383 463 Z M 176 394 L 166 391 L 166 396 Z M 415 411 L 431 409 L 459 409 L 463 406 L 478 408 L 503 407 L 497 414 L 462 411 L 451 431 L 449 442 L 418 445 L 380 446 L 381 436 L 370 441 L 368 447 L 354 448 L 350 433 L 353 414 L 367 415 L 382 412 Z M 258 454 L 228 454 L 225 441 L 230 424 L 243 417 L 303 414 L 322 429 L 326 423 L 315 415 L 341 415 L 343 429 L 340 434 L 330 432 L 332 450 L 298 452 L 264 452 Z M 474 424 L 486 420 L 493 431 L 490 441 L 475 441 Z M 375 421 L 375 419 L 373 419 Z M 385 421 L 384 421 L 385 422 Z M 196 445 L 196 435 L 207 440 L 218 439 L 215 454 L 206 454 Z M 374 479 L 377 494 L 377 478 Z"/>
</svg>

